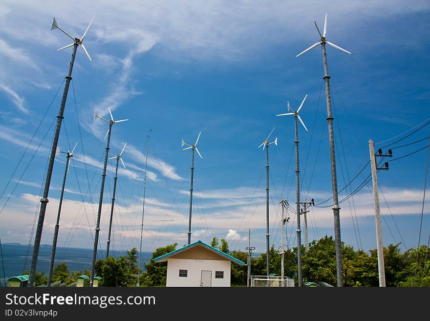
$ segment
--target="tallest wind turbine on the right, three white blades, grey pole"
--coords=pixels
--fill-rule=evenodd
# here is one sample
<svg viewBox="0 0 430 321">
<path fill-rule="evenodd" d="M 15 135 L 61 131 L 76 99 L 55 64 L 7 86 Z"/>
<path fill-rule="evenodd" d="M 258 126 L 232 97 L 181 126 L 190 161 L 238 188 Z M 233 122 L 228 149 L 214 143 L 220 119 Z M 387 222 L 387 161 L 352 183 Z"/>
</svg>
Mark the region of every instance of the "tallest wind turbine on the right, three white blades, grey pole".
<svg viewBox="0 0 430 321">
<path fill-rule="evenodd" d="M 339 47 L 334 43 L 330 43 L 325 39 L 325 34 L 327 32 L 327 14 L 325 14 L 324 20 L 324 30 L 323 35 L 321 35 L 320 29 L 318 29 L 317 22 L 314 19 L 315 28 L 318 30 L 318 34 L 321 39 L 318 43 L 314 43 L 306 50 L 302 51 L 296 57 L 299 57 L 301 54 L 306 51 L 316 47 L 321 44 L 321 48 L 323 49 L 323 64 L 324 64 L 324 81 L 325 81 L 325 99 L 327 101 L 327 122 L 328 122 L 328 137 L 330 142 L 330 163 L 331 163 L 331 178 L 332 178 L 332 188 L 333 188 L 333 216 L 334 216 L 334 231 L 335 231 L 335 246 L 336 246 L 336 276 L 337 276 L 337 286 L 343 286 L 343 272 L 342 272 L 342 245 L 341 245 L 341 222 L 339 215 L 339 200 L 338 200 L 338 183 L 336 178 L 336 159 L 335 159 L 335 151 L 334 151 L 334 134 L 333 134 L 333 115 L 331 112 L 331 95 L 330 95 L 330 76 L 328 75 L 327 70 L 327 56 L 325 54 L 325 44 L 344 51 L 350 54 L 349 51 L 344 48 Z"/>
</svg>

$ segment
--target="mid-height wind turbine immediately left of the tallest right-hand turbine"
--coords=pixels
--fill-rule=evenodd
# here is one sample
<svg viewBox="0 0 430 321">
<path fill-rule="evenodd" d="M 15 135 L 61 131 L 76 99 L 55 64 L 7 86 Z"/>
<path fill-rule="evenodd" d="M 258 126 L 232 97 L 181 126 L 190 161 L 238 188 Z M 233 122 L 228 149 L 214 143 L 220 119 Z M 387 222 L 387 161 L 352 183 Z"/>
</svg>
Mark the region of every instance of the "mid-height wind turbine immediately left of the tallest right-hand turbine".
<svg viewBox="0 0 430 321">
<path fill-rule="evenodd" d="M 294 142 L 296 144 L 296 182 L 297 182 L 297 191 L 296 191 L 296 206 L 297 206 L 297 268 L 298 268 L 298 285 L 301 286 L 301 230 L 300 230 L 300 169 L 299 169 L 299 136 L 298 136 L 298 130 L 297 130 L 297 119 L 300 120 L 301 125 L 303 125 L 304 129 L 307 128 L 304 126 L 303 121 L 301 120 L 299 116 L 299 111 L 301 107 L 303 107 L 304 101 L 306 100 L 306 96 L 304 96 L 303 101 L 300 104 L 300 107 L 297 109 L 297 111 L 294 111 L 290 107 L 290 102 L 287 102 L 288 110 L 291 110 L 292 112 L 288 112 L 286 114 L 279 114 L 277 116 L 288 116 L 288 115 L 294 115 L 294 127 L 296 131 L 296 141 Z"/>
</svg>

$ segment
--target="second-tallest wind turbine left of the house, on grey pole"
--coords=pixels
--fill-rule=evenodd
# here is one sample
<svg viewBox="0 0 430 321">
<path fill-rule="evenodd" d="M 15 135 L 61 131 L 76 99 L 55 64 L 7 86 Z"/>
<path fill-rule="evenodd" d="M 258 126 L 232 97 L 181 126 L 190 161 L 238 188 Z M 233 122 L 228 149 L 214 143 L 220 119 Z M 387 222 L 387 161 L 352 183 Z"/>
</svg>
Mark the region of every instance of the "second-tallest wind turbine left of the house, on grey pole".
<svg viewBox="0 0 430 321">
<path fill-rule="evenodd" d="M 121 122 L 125 122 L 128 119 L 122 119 L 122 120 L 114 120 L 112 113 L 110 112 L 110 109 L 108 108 L 109 111 L 109 115 L 110 115 L 110 120 L 103 118 L 101 116 L 99 116 L 96 112 L 95 117 L 94 118 L 100 118 L 101 120 L 104 120 L 105 122 L 109 123 L 109 128 L 108 128 L 108 132 L 105 135 L 105 139 L 108 138 L 107 143 L 106 143 L 106 151 L 105 151 L 105 163 L 103 165 L 103 174 L 102 174 L 102 184 L 101 184 L 101 188 L 100 188 L 100 199 L 99 199 L 99 210 L 97 213 L 97 223 L 96 223 L 96 231 L 95 231 L 95 235 L 94 235 L 94 251 L 92 254 L 92 264 L 91 264 L 91 278 L 89 281 L 89 286 L 92 287 L 93 281 L 94 281 L 94 268 L 95 268 L 95 263 L 96 263 L 96 257 L 97 257 L 97 244 L 99 242 L 99 232 L 100 232 L 100 215 L 102 214 L 102 203 L 103 203 L 103 192 L 105 189 L 105 178 L 106 178 L 106 167 L 108 165 L 108 154 L 109 154 L 109 143 L 110 143 L 110 133 L 112 131 L 112 126 L 113 124 L 116 123 L 121 123 Z"/>
</svg>

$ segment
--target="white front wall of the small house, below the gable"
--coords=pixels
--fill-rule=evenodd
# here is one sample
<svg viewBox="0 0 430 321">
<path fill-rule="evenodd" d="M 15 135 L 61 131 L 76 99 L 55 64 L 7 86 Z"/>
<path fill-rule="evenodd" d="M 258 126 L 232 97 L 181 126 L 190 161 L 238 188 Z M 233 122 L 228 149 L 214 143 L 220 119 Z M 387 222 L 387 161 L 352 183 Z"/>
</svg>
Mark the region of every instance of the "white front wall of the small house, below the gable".
<svg viewBox="0 0 430 321">
<path fill-rule="evenodd" d="M 201 271 L 212 271 L 211 286 L 230 286 L 230 269 L 230 260 L 168 258 L 166 286 L 200 286 Z M 188 270 L 187 278 L 179 270 Z M 224 278 L 215 278 L 215 271 L 224 271 Z"/>
</svg>

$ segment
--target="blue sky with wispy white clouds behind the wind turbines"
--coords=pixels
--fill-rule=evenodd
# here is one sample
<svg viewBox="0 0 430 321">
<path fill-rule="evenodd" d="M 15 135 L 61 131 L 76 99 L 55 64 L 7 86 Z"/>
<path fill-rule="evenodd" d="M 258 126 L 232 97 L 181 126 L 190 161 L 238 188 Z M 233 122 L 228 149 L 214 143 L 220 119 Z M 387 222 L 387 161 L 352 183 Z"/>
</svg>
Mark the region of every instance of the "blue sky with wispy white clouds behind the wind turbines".
<svg viewBox="0 0 430 321">
<path fill-rule="evenodd" d="M 270 244 L 278 248 L 279 201 L 288 199 L 295 207 L 296 182 L 294 118 L 276 115 L 287 112 L 287 101 L 297 109 L 306 94 L 300 115 L 309 130 L 299 128 L 301 200 L 314 198 L 319 204 L 332 196 L 321 47 L 295 57 L 319 40 L 313 18 L 322 29 L 327 12 L 327 40 L 352 53 L 327 47 L 339 190 L 358 174 L 339 194 L 343 199 L 370 174 L 369 166 L 359 174 L 369 159 L 369 139 L 376 148 L 383 147 L 428 122 L 429 10 L 427 1 L 396 0 L 127 1 L 126 5 L 3 1 L 1 241 L 33 243 L 30 237 L 53 136 L 50 126 L 58 113 L 71 56 L 71 48 L 57 51 L 70 42 L 61 31 L 50 30 L 54 16 L 63 30 L 76 37 L 94 17 L 84 41 L 92 62 L 78 48 L 59 140 L 64 151 L 78 142 L 67 176 L 59 246 L 93 246 L 108 129 L 94 114 L 108 117 L 109 107 L 115 119 L 129 118 L 112 129 L 110 152 L 118 153 L 127 142 L 123 154 L 127 169 L 120 169 L 118 176 L 111 250 L 139 248 L 145 144 L 151 130 L 142 250 L 187 243 L 191 151 L 182 150 L 181 139 L 193 144 L 201 131 L 198 149 L 203 159 L 197 154 L 194 159 L 192 241 L 210 243 L 216 236 L 226 238 L 231 250 L 244 251 L 251 230 L 251 245 L 265 252 L 266 159 L 258 146 L 275 127 L 271 139 L 278 137 L 278 146 L 269 147 L 269 206 Z M 428 136 L 425 126 L 390 147 Z M 393 158 L 427 144 L 423 140 L 393 149 Z M 51 181 L 44 244 L 52 243 L 64 164 L 65 156 L 60 154 Z M 427 244 L 426 164 L 424 149 L 393 161 L 389 171 L 378 172 L 384 245 L 402 242 L 400 248 L 406 250 L 418 242 Z M 109 161 L 102 249 L 114 165 Z M 310 209 L 309 241 L 334 235 L 330 205 L 325 202 L 321 206 L 327 207 Z M 355 249 L 376 248 L 371 182 L 340 205 L 342 241 Z M 293 212 L 289 214 L 286 234 L 292 247 L 296 220 Z"/>
</svg>

